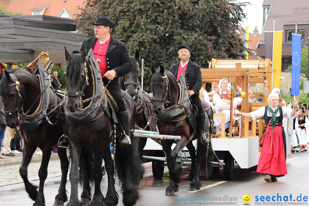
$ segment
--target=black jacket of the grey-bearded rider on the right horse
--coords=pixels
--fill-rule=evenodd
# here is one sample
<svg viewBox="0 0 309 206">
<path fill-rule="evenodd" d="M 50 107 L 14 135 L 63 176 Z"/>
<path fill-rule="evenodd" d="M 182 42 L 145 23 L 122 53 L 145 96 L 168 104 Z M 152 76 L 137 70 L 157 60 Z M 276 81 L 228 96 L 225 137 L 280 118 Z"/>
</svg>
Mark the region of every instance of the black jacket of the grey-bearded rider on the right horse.
<svg viewBox="0 0 309 206">
<path fill-rule="evenodd" d="M 170 72 L 174 74 L 175 78 L 177 77 L 179 64 L 180 61 L 170 67 Z M 188 89 L 193 90 L 196 95 L 199 95 L 200 89 L 203 86 L 200 66 L 189 60 L 185 78 Z"/>
</svg>

